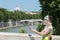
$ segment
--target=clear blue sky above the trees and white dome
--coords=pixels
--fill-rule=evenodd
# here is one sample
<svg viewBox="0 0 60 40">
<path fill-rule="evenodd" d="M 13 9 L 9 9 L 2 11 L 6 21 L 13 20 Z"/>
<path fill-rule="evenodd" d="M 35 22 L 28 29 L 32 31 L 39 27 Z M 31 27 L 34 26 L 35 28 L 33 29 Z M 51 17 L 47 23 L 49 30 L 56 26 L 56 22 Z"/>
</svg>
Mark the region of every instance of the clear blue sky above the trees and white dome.
<svg viewBox="0 0 60 40">
<path fill-rule="evenodd" d="M 16 5 L 20 7 L 21 11 L 39 11 L 41 9 L 38 0 L 0 0 L 0 8 L 14 10 Z"/>
</svg>

